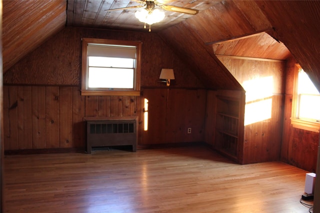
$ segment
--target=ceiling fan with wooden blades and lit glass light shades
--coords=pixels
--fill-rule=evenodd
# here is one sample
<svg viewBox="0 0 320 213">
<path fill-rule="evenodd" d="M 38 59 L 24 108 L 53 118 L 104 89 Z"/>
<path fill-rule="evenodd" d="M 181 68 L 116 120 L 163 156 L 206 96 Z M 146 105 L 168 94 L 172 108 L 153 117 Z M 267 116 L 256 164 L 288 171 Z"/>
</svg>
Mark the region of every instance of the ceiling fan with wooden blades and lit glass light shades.
<svg viewBox="0 0 320 213">
<path fill-rule="evenodd" d="M 149 32 L 151 31 L 151 27 L 150 27 L 151 24 L 159 22 L 164 18 L 163 10 L 172 11 L 172 12 L 182 12 L 189 15 L 195 15 L 199 12 L 199 10 L 197 9 L 163 4 L 157 0 L 132 0 L 132 1 L 141 3 L 142 5 L 106 9 L 105 11 L 140 8 L 145 6 L 143 10 L 138 10 L 135 12 L 135 17 L 138 18 L 139 21 L 144 22 L 144 28 L 145 28 L 145 23 L 149 24 Z"/>
</svg>

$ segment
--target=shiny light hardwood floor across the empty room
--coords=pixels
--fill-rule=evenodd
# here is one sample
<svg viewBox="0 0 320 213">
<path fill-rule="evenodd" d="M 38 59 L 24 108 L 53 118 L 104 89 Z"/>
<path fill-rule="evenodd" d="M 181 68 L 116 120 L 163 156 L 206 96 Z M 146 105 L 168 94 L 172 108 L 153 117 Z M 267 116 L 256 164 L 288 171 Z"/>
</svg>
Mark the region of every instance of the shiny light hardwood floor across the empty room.
<svg viewBox="0 0 320 213">
<path fill-rule="evenodd" d="M 204 146 L 5 156 L 10 213 L 308 213 L 304 170 Z"/>
</svg>

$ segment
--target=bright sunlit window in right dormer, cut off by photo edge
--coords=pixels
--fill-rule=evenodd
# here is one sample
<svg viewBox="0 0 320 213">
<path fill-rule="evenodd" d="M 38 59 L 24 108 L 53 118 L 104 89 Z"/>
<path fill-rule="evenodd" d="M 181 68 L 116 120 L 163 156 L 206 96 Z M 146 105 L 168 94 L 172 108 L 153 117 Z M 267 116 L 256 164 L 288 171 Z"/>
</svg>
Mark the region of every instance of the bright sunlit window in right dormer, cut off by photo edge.
<svg viewBox="0 0 320 213">
<path fill-rule="evenodd" d="M 295 128 L 319 132 L 320 93 L 298 64 L 295 65 L 293 80 L 291 124 Z"/>
</svg>

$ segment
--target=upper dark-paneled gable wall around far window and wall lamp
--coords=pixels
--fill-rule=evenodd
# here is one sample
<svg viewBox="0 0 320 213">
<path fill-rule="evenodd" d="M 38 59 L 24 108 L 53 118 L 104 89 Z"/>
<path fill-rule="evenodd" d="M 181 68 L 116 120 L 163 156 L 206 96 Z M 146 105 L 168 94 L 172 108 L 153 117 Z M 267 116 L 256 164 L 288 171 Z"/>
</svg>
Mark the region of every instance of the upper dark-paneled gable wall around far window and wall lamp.
<svg viewBox="0 0 320 213">
<path fill-rule="evenodd" d="M 142 42 L 141 86 L 162 87 L 161 68 L 172 68 L 170 87 L 204 88 L 191 72 L 188 61 L 179 58 L 155 33 L 67 27 L 26 55 L 3 76 L 5 84 L 80 86 L 82 37 Z"/>
</svg>

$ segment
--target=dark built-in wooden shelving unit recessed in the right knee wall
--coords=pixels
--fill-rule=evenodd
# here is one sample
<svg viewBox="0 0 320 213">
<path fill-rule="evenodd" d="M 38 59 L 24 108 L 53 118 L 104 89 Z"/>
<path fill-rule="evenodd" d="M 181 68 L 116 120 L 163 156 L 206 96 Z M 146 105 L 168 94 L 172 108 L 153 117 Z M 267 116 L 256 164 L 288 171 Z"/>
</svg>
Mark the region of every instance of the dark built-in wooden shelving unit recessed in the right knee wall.
<svg viewBox="0 0 320 213">
<path fill-rule="evenodd" d="M 241 96 L 216 95 L 214 149 L 239 162 L 243 147 Z M 242 128 L 241 128 L 242 126 Z"/>
</svg>

